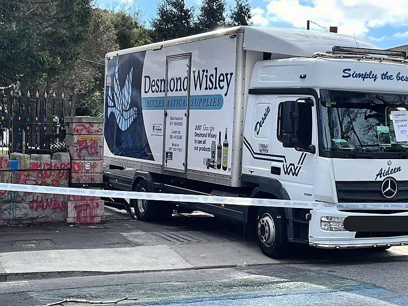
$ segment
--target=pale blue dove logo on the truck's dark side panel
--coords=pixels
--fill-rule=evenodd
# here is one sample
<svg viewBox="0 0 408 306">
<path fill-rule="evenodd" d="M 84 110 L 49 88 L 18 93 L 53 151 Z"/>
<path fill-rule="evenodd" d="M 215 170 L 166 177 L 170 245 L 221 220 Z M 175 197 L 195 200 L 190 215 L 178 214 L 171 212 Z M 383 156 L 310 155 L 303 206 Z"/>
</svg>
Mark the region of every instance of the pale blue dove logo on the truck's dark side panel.
<svg viewBox="0 0 408 306">
<path fill-rule="evenodd" d="M 113 86 L 109 86 L 107 94 L 108 116 L 113 113 L 113 116 L 118 123 L 118 127 L 125 131 L 132 124 L 134 119 L 138 117 L 138 109 L 130 107 L 132 96 L 132 73 L 133 67 L 130 68 L 126 76 L 123 87 L 119 84 L 119 61 L 116 62 L 115 72 L 113 74 Z"/>
</svg>

